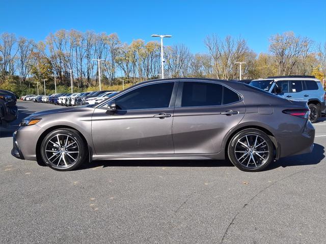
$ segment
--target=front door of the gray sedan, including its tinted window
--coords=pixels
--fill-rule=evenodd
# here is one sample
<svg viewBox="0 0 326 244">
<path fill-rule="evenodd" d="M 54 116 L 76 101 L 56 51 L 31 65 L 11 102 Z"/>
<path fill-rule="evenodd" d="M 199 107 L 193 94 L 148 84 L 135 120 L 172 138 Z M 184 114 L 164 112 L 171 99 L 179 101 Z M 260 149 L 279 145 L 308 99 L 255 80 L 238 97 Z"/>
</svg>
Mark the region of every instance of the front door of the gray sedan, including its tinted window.
<svg viewBox="0 0 326 244">
<path fill-rule="evenodd" d="M 156 82 L 131 89 L 113 98 L 114 113 L 105 105 L 97 107 L 92 117 L 96 154 L 173 154 L 177 83 Z"/>
</svg>

